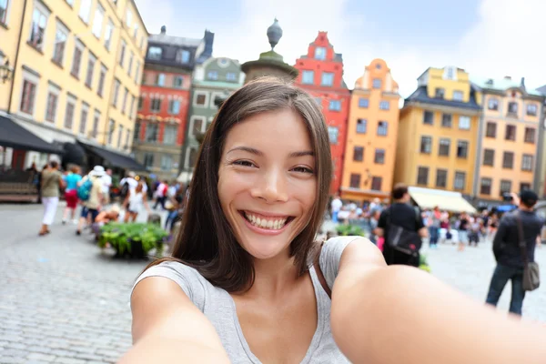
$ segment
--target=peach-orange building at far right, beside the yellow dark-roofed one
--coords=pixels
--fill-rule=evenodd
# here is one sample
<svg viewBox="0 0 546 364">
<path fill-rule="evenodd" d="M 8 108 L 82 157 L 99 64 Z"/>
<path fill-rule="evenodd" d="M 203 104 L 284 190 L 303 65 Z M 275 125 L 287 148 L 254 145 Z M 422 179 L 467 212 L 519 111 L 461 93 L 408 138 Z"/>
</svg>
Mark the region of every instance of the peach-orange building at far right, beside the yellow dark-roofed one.
<svg viewBox="0 0 546 364">
<path fill-rule="evenodd" d="M 483 205 L 505 193 L 540 190 L 537 167 L 544 97 L 511 77 L 472 77 L 483 96 L 474 196 Z"/>
</svg>

